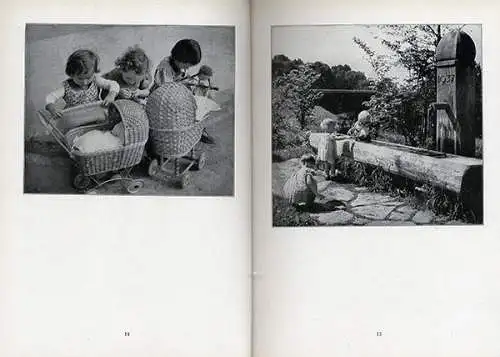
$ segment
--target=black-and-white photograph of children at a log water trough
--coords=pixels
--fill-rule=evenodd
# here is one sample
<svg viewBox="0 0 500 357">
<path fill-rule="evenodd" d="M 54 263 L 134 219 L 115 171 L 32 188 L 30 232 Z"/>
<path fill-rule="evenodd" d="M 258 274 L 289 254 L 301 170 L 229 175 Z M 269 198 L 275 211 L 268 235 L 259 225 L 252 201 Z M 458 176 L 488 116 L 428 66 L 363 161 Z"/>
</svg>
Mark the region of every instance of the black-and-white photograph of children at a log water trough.
<svg viewBox="0 0 500 357">
<path fill-rule="evenodd" d="M 481 24 L 271 33 L 274 227 L 483 224 Z"/>
</svg>

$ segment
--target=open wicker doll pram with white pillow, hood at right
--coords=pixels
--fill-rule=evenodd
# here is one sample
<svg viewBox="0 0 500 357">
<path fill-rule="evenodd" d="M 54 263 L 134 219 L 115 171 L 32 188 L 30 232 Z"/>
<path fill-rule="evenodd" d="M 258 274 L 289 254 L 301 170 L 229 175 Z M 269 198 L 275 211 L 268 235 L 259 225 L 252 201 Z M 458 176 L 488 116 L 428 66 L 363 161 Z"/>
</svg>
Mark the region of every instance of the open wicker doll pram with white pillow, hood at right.
<svg viewBox="0 0 500 357">
<path fill-rule="evenodd" d="M 63 110 L 55 119 L 45 111 L 38 112 L 42 124 L 76 163 L 78 173 L 73 186 L 80 192 L 107 182 L 121 181 L 129 193 L 137 193 L 144 181 L 130 176 L 144 153 L 149 123 L 144 107 L 130 100 L 117 100 L 103 108 L 102 102 L 79 105 Z M 81 152 L 73 146 L 75 139 L 91 130 L 111 130 L 119 121 L 124 125 L 124 145 L 116 149 Z M 102 181 L 104 173 L 119 172 Z M 93 187 L 92 187 L 93 186 Z"/>
</svg>

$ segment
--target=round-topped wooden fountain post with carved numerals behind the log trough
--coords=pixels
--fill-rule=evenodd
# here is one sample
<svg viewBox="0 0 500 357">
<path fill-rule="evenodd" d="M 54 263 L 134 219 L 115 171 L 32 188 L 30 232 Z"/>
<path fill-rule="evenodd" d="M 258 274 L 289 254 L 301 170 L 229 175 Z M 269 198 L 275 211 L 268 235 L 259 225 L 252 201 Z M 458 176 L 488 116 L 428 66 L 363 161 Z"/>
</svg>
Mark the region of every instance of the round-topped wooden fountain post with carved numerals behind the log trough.
<svg viewBox="0 0 500 357">
<path fill-rule="evenodd" d="M 474 41 L 464 32 L 445 35 L 436 49 L 436 150 L 474 156 Z"/>
</svg>

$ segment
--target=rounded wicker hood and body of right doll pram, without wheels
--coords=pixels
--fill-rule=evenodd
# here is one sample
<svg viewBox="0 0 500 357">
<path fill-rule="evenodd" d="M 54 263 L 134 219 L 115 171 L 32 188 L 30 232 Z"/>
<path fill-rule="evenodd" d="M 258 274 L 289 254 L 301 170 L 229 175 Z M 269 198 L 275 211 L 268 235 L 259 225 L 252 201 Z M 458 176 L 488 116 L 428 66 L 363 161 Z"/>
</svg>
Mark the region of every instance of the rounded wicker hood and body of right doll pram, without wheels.
<svg viewBox="0 0 500 357">
<path fill-rule="evenodd" d="M 196 101 L 183 84 L 166 83 L 148 98 L 146 112 L 153 152 L 162 157 L 186 155 L 201 138 Z"/>
</svg>

